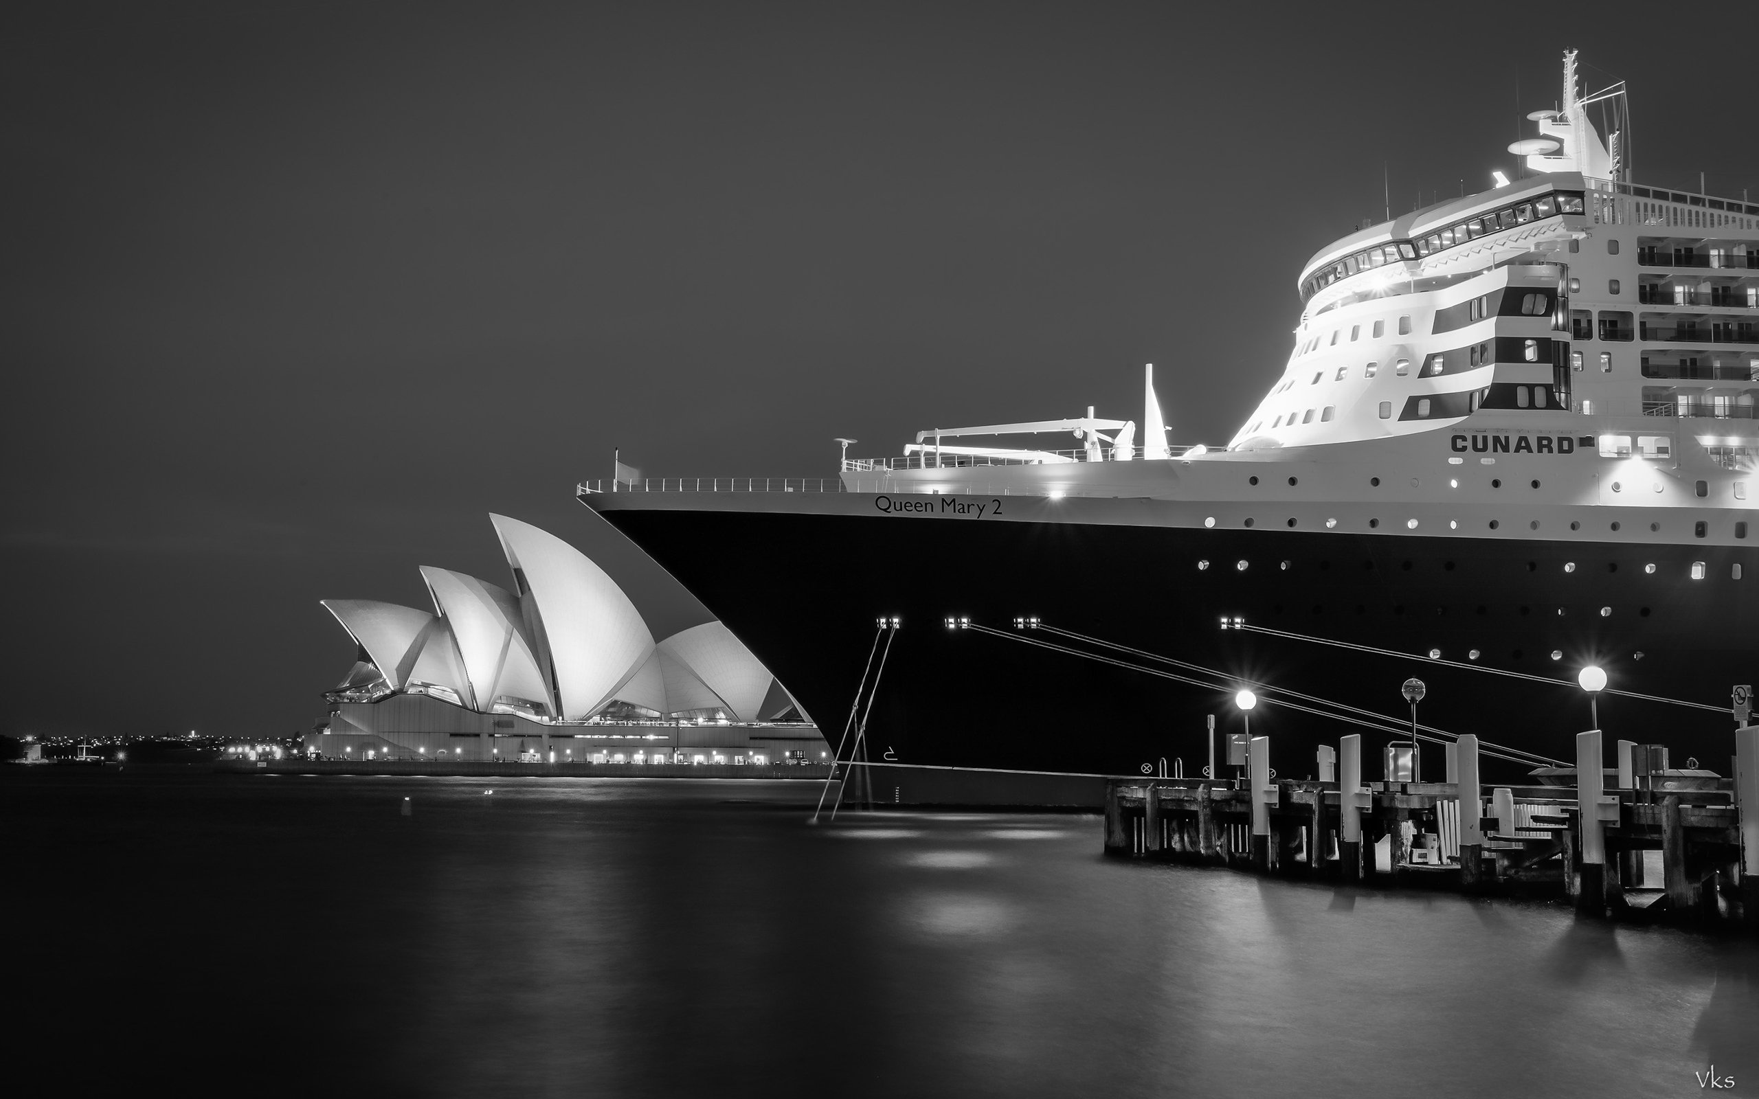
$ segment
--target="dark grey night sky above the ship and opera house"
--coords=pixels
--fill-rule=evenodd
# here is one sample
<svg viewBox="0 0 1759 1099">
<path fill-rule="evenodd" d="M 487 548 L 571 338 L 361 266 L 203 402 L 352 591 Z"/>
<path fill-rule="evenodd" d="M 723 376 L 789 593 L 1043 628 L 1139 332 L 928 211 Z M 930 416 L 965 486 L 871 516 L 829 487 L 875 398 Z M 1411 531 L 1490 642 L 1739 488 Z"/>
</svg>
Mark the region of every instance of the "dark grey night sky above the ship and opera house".
<svg viewBox="0 0 1759 1099">
<path fill-rule="evenodd" d="M 1488 186 L 1566 46 L 1641 181 L 1759 195 L 1750 65 L 1669 11 L 11 5 L 0 731 L 310 728 L 317 601 L 505 584 L 487 512 L 617 571 L 572 501 L 614 445 L 832 475 L 1135 418 L 1147 360 L 1224 441 L 1383 164 L 1395 211 Z"/>
</svg>

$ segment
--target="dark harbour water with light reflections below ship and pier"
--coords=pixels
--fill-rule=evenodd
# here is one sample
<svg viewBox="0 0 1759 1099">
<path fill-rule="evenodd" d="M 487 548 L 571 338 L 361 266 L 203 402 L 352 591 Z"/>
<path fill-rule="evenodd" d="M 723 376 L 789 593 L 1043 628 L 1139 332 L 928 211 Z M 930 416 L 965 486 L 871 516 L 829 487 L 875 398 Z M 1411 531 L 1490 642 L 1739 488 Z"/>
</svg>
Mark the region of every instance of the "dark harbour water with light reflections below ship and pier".
<svg viewBox="0 0 1759 1099">
<path fill-rule="evenodd" d="M 1110 860 L 1098 816 L 4 770 L 12 1062 L 62 1087 L 1555 1097 L 1701 1094 L 1715 1066 L 1759 1090 L 1750 941 Z"/>
</svg>

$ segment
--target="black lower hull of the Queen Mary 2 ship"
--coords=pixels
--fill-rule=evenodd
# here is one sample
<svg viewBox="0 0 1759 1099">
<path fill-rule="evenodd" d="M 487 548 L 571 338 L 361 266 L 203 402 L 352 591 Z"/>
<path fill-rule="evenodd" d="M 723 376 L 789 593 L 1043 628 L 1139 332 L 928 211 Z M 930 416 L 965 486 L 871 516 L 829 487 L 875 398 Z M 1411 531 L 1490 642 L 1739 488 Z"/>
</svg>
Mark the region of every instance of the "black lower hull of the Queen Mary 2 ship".
<svg viewBox="0 0 1759 1099">
<path fill-rule="evenodd" d="M 1573 763 L 1574 733 L 1590 728 L 1588 698 L 1574 686 L 1583 665 L 1604 666 L 1617 689 L 1706 705 L 1727 705 L 1729 688 L 1754 679 L 1748 593 L 1759 554 L 1745 547 L 1168 528 L 1119 520 L 1117 508 L 1136 501 L 1098 499 L 1057 501 L 1055 519 L 1045 501 L 1008 501 L 1025 519 L 960 522 L 832 499 L 813 508 L 799 498 L 586 498 L 726 622 L 832 744 L 876 619 L 897 615 L 867 728 L 874 760 L 1138 774 L 1166 758 L 1198 774 L 1205 716 L 1215 714 L 1217 740 L 1242 728 L 1231 705 L 1240 682 L 1398 724 L 1409 721 L 1400 682 L 1418 675 L 1428 684 L 1425 724 Z M 1692 579 L 1694 563 L 1703 579 Z M 1748 580 L 1733 579 L 1736 564 Z M 1217 686 L 948 630 L 950 615 L 1008 631 L 1015 617 L 1036 615 L 1214 668 Z M 1562 682 L 1224 631 L 1223 617 L 1411 654 L 1439 649 L 1444 659 Z M 1599 721 L 1608 742 L 1668 744 L 1675 767 L 1696 756 L 1720 772 L 1733 751 L 1727 710 L 1613 695 L 1599 700 Z M 1377 770 L 1391 739 L 1268 698 L 1251 731 L 1272 737 L 1272 763 L 1289 777 L 1312 774 L 1312 749 L 1349 731 L 1365 733 L 1365 767 Z M 1523 770 L 1486 761 L 1504 781 Z M 1439 760 L 1425 765 L 1425 777 L 1439 772 Z"/>
</svg>

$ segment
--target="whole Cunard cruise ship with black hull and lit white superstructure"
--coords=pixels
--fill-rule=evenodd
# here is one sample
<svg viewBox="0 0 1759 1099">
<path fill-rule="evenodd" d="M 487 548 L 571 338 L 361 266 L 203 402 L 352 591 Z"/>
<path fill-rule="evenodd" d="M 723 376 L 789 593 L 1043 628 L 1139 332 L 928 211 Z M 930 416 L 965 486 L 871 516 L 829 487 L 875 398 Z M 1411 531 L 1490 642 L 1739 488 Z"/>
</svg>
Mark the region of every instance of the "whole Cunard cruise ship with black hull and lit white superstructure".
<svg viewBox="0 0 1759 1099">
<path fill-rule="evenodd" d="M 1520 179 L 1307 262 L 1226 447 L 1168 441 L 1149 368 L 1140 418 L 579 499 L 874 760 L 1196 774 L 1214 716 L 1302 777 L 1420 677 L 1425 735 L 1573 760 L 1597 721 L 1722 770 L 1759 677 L 1759 202 L 1636 183 L 1574 53 L 1529 120 Z"/>
</svg>

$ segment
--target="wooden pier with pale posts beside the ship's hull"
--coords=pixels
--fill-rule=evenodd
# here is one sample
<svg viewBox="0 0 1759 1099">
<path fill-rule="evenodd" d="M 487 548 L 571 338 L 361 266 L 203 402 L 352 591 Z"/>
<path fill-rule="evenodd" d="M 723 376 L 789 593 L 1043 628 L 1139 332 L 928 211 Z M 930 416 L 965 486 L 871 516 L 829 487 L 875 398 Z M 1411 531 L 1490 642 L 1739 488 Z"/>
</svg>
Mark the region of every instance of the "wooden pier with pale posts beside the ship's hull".
<svg viewBox="0 0 1759 1099">
<path fill-rule="evenodd" d="M 1759 786 L 1759 730 L 1741 733 L 1734 779 L 1632 775 L 1636 746 L 1620 742 L 1613 790 L 1594 781 L 1604 774 L 1597 731 L 1578 739 L 1590 781 L 1576 788 L 1479 784 L 1471 737 L 1460 739 L 1451 782 L 1363 784 L 1356 737 L 1337 753 L 1337 779 L 1330 749 L 1321 781 L 1272 781 L 1258 758 L 1235 781 L 1112 779 L 1105 849 L 1321 881 L 1567 897 L 1585 916 L 1759 930 L 1759 790 L 1745 790 Z M 1252 747 L 1268 758 L 1263 737 Z"/>
</svg>

